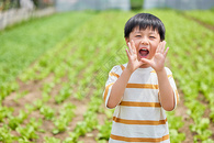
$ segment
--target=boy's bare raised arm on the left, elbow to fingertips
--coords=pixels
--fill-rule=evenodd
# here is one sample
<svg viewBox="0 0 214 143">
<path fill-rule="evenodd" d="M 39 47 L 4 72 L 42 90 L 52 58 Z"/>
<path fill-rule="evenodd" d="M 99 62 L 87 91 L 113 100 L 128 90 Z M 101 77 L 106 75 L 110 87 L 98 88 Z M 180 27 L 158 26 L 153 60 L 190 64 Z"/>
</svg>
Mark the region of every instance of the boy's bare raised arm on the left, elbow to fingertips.
<svg viewBox="0 0 214 143">
<path fill-rule="evenodd" d="M 106 105 L 109 108 L 114 108 L 119 105 L 124 95 L 131 75 L 143 64 L 143 62 L 137 59 L 136 48 L 133 41 L 132 43 L 128 43 L 128 51 L 126 50 L 126 54 L 128 57 L 128 63 L 122 75 L 112 86 L 110 98 Z"/>
</svg>

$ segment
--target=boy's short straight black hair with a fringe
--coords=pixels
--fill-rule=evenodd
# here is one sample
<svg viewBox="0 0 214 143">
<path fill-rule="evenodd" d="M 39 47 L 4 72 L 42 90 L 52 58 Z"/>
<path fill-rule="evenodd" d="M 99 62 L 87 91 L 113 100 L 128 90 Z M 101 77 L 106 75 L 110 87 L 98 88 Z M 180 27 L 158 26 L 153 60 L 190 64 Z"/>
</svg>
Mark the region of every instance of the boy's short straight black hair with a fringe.
<svg viewBox="0 0 214 143">
<path fill-rule="evenodd" d="M 147 28 L 157 30 L 160 35 L 160 41 L 165 40 L 165 25 L 157 16 L 149 13 L 138 13 L 132 16 L 125 24 L 124 37 L 128 38 L 129 33 L 136 28 L 139 30 L 146 30 Z"/>
</svg>

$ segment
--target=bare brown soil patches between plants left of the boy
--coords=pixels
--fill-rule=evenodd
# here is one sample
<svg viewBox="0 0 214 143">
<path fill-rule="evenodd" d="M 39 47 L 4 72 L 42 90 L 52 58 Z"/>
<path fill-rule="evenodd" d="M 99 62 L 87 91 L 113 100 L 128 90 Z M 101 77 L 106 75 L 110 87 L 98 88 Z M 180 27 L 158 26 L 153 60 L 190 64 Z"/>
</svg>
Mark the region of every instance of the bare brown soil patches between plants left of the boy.
<svg viewBox="0 0 214 143">
<path fill-rule="evenodd" d="M 82 73 L 82 72 L 80 72 L 80 73 Z M 79 76 L 79 78 L 81 78 L 81 77 Z M 42 87 L 43 87 L 44 82 L 50 82 L 52 79 L 53 79 L 53 74 L 50 74 L 47 78 L 45 78 L 43 80 L 36 80 L 36 81 L 23 82 L 20 79 L 16 79 L 16 81 L 20 85 L 20 90 L 16 92 L 12 92 L 10 96 L 5 97 L 4 100 L 2 101 L 2 106 L 12 107 L 14 109 L 13 116 L 19 116 L 19 111 L 21 109 L 22 110 L 25 109 L 25 107 L 24 107 L 25 103 L 33 105 L 33 101 L 42 98 Z M 68 79 L 67 77 L 61 78 L 61 82 L 66 82 L 67 79 Z M 61 88 L 60 84 L 55 85 L 55 87 L 50 91 L 52 98 L 45 103 L 46 106 L 48 106 L 53 109 L 56 109 L 56 111 L 60 110 L 60 105 L 57 105 L 55 102 L 54 97 L 57 96 L 60 88 Z M 56 135 L 53 134 L 52 133 L 52 130 L 54 129 L 53 121 L 45 120 L 38 110 L 35 110 L 31 114 L 29 114 L 29 118 L 26 120 L 24 120 L 22 125 L 29 123 L 31 118 L 43 119 L 43 124 L 41 125 L 41 129 L 44 130 L 45 132 L 37 132 L 38 139 L 35 140 L 36 143 L 43 143 L 45 136 L 55 136 L 57 139 L 65 140 L 66 138 L 69 136 L 68 132 L 74 131 L 77 122 L 83 120 L 83 113 L 87 111 L 88 103 L 90 102 L 90 96 L 93 92 L 93 90 L 94 90 L 94 88 L 91 88 L 89 91 L 89 95 L 83 100 L 78 100 L 75 97 L 70 96 L 66 101 L 64 101 L 64 102 L 71 102 L 72 105 L 76 106 L 76 109 L 75 109 L 76 116 L 72 119 L 72 121 L 69 123 L 66 132 L 58 133 Z M 24 97 L 14 100 L 16 98 L 18 94 L 23 92 L 23 91 L 27 91 L 27 94 Z M 77 90 L 74 88 L 74 92 L 76 92 L 76 91 Z M 27 111 L 27 110 L 25 110 L 25 111 Z M 98 119 L 99 119 L 100 124 L 104 123 L 105 118 L 106 117 L 104 113 L 98 113 Z M 7 123 L 7 122 L 8 121 L 4 121 L 4 123 Z M 97 138 L 98 132 L 99 132 L 98 130 L 93 130 L 91 133 L 87 133 L 85 136 L 80 136 L 79 141 L 83 141 L 85 143 L 95 143 L 97 142 L 95 138 Z M 20 135 L 16 131 L 12 131 L 11 134 L 13 134 L 15 136 Z"/>
</svg>

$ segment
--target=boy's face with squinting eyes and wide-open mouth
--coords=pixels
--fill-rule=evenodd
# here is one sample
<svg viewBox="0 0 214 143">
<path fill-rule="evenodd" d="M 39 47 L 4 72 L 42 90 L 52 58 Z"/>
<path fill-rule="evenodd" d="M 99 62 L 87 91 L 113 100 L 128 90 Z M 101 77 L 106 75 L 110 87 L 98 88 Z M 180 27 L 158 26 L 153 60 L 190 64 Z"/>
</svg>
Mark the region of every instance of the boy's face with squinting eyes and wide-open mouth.
<svg viewBox="0 0 214 143">
<path fill-rule="evenodd" d="M 156 53 L 158 44 L 160 43 L 160 35 L 157 30 L 154 31 L 150 28 L 147 28 L 146 30 L 139 30 L 139 28 L 136 26 L 129 33 L 129 37 L 125 38 L 126 44 L 132 40 L 135 43 L 137 59 L 151 59 Z M 146 65 L 143 65 L 143 67 L 146 67 Z"/>
</svg>

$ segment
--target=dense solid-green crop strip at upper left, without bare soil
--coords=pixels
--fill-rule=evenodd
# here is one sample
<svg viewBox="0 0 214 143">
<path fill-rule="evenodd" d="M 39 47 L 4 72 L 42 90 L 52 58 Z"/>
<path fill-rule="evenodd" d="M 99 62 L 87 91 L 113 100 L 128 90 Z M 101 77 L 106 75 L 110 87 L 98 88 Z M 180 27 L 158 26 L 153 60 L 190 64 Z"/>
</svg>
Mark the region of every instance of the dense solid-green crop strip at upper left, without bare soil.
<svg viewBox="0 0 214 143">
<path fill-rule="evenodd" d="M 92 12 L 57 13 L 0 31 L 0 88 L 92 16 Z"/>
</svg>

